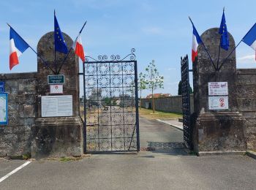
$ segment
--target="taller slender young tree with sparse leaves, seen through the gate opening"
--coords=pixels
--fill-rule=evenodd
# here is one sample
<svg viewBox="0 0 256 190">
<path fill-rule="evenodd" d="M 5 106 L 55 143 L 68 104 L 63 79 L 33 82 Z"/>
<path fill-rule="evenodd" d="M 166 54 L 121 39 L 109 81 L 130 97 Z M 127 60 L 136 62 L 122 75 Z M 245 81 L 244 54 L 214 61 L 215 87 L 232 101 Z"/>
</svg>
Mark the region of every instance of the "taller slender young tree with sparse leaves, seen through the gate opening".
<svg viewBox="0 0 256 190">
<path fill-rule="evenodd" d="M 154 90 L 157 88 L 164 88 L 164 77 L 159 75 L 157 66 L 154 64 L 154 60 L 146 67 L 145 84 L 148 90 L 151 90 L 152 94 L 152 108 L 154 113 Z"/>
</svg>

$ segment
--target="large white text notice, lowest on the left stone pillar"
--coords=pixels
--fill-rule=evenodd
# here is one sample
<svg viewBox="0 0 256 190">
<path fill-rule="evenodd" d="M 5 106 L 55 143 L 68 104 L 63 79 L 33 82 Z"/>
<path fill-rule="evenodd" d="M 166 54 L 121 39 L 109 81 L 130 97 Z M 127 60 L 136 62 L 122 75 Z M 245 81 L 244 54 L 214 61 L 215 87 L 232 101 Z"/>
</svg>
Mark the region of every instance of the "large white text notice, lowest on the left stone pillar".
<svg viewBox="0 0 256 190">
<path fill-rule="evenodd" d="M 42 96 L 42 117 L 72 116 L 72 95 Z"/>
</svg>

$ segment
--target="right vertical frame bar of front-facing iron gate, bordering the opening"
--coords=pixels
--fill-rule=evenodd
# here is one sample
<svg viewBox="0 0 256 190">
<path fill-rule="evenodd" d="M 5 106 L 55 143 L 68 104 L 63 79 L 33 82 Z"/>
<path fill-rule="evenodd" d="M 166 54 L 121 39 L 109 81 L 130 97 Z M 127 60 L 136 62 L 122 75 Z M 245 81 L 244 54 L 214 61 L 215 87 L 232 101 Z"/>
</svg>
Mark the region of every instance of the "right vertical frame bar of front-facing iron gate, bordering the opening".
<svg viewBox="0 0 256 190">
<path fill-rule="evenodd" d="M 139 110 L 138 110 L 138 68 L 137 61 L 135 64 L 135 107 L 136 107 L 136 136 L 137 136 L 137 151 L 140 151 L 140 130 L 139 130 Z M 141 101 L 141 100 L 140 100 Z"/>
</svg>

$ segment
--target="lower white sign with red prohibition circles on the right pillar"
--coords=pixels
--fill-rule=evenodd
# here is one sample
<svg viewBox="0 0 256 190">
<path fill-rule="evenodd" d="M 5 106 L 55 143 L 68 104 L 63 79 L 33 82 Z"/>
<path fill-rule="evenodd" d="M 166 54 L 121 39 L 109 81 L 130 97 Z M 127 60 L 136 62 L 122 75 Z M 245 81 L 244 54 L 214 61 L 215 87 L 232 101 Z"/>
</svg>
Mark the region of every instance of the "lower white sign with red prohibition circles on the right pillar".
<svg viewBox="0 0 256 190">
<path fill-rule="evenodd" d="M 227 110 L 228 96 L 208 96 L 209 110 Z"/>
</svg>

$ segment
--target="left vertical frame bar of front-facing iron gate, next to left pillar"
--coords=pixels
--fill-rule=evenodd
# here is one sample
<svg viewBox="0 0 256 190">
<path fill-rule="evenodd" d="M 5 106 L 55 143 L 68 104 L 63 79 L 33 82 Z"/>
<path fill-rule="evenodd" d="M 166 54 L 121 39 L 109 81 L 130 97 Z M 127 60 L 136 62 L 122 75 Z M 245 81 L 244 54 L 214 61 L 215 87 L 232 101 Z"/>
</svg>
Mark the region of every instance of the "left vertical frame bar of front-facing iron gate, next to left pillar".
<svg viewBox="0 0 256 190">
<path fill-rule="evenodd" d="M 86 69 L 83 63 L 83 152 L 86 153 Z"/>
</svg>

